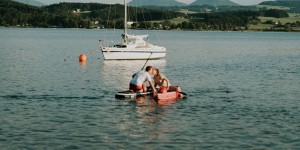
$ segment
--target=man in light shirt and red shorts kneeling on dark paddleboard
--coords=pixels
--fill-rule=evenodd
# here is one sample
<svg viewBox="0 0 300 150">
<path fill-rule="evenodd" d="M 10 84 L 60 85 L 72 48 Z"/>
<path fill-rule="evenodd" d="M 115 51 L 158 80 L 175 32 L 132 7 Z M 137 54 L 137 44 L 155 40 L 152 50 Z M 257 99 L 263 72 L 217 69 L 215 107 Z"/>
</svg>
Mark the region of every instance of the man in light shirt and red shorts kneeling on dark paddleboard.
<svg viewBox="0 0 300 150">
<path fill-rule="evenodd" d="M 145 71 L 139 71 L 134 74 L 130 81 L 129 90 L 132 92 L 146 92 L 147 86 L 144 82 L 148 81 L 153 93 L 156 93 L 150 74 L 154 75 L 154 68 L 152 66 L 147 66 Z"/>
</svg>

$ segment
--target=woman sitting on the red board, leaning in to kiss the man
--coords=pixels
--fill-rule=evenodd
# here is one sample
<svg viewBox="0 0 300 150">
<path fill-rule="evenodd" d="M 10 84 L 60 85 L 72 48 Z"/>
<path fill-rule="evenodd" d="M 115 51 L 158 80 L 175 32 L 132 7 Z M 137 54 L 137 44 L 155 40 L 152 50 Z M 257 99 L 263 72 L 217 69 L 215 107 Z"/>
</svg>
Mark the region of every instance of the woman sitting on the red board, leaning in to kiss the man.
<svg viewBox="0 0 300 150">
<path fill-rule="evenodd" d="M 172 86 L 168 78 L 162 73 L 160 73 L 160 71 L 157 68 L 154 69 L 153 80 L 154 87 L 159 86 L 159 93 L 166 93 L 167 91 L 181 91 L 181 89 L 178 86 Z"/>
</svg>

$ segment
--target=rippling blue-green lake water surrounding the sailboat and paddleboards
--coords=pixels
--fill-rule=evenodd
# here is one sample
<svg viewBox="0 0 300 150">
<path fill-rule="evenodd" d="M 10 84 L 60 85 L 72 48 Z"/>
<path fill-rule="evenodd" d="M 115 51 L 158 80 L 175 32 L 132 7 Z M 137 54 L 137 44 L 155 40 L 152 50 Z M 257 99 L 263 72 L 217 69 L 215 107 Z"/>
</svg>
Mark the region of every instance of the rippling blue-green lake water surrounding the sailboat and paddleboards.
<svg viewBox="0 0 300 150">
<path fill-rule="evenodd" d="M 0 149 L 300 149 L 300 33 L 139 32 L 188 98 L 114 98 L 145 63 L 103 60 L 121 30 L 0 28 Z"/>
</svg>

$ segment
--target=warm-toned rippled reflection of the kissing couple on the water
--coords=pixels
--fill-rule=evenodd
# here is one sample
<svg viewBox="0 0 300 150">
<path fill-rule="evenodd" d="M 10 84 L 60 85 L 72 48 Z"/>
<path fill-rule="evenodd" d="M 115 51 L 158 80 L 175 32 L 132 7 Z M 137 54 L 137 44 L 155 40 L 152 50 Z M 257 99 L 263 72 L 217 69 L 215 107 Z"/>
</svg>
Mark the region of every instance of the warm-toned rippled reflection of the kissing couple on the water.
<svg viewBox="0 0 300 150">
<path fill-rule="evenodd" d="M 177 129 L 172 124 L 164 123 L 164 120 L 169 119 L 167 116 L 169 111 L 174 111 L 171 105 L 158 105 L 151 96 L 138 96 L 136 99 L 119 101 L 129 101 L 130 103 L 130 105 L 118 107 L 129 114 L 122 115 L 123 123 L 119 125 L 121 132 L 129 132 L 127 136 L 129 140 L 137 140 L 137 137 L 142 141 L 166 140 L 168 133 L 176 132 Z M 153 149 L 151 144 L 134 144 L 130 147 Z"/>
</svg>

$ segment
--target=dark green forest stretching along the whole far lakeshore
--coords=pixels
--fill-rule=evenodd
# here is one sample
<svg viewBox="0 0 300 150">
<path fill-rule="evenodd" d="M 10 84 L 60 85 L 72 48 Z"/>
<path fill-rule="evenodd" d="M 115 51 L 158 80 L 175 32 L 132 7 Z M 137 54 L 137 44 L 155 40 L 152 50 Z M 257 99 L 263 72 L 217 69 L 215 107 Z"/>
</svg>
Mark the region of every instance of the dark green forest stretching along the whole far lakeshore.
<svg viewBox="0 0 300 150">
<path fill-rule="evenodd" d="M 198 7 L 203 9 L 202 7 Z M 208 7 L 209 8 L 209 7 Z M 132 29 L 148 30 L 249 30 L 252 25 L 272 24 L 266 30 L 292 31 L 300 22 L 262 22 L 260 17 L 287 18 L 286 10 L 237 9 L 219 12 L 184 13 L 180 8 L 129 7 Z M 193 9 L 196 9 L 195 6 Z M 224 8 L 223 8 L 224 10 Z M 0 0 L 0 26 L 42 28 L 124 28 L 124 6 L 100 3 L 59 3 L 43 7 Z M 173 20 L 177 20 L 174 22 Z M 178 21 L 179 20 L 179 21 Z M 276 28 L 274 28 L 276 27 Z"/>
</svg>

